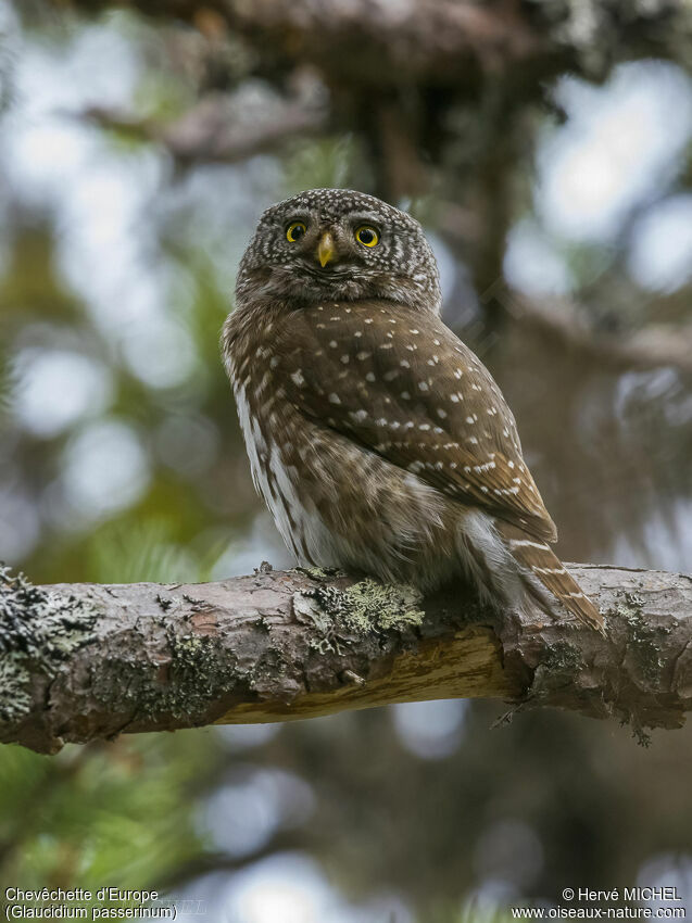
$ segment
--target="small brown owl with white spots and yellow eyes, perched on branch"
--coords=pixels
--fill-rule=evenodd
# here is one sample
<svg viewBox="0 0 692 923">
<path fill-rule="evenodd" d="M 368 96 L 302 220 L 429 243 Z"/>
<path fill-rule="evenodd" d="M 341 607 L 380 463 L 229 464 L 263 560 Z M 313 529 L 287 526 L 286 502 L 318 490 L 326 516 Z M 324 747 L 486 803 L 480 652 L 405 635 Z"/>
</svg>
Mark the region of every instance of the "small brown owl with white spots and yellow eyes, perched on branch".
<svg viewBox="0 0 692 923">
<path fill-rule="evenodd" d="M 268 208 L 222 351 L 254 484 L 299 562 L 423 592 L 471 581 L 600 628 L 488 369 L 440 319 L 410 215 L 315 189 Z M 564 612 L 562 614 L 564 615 Z"/>
</svg>

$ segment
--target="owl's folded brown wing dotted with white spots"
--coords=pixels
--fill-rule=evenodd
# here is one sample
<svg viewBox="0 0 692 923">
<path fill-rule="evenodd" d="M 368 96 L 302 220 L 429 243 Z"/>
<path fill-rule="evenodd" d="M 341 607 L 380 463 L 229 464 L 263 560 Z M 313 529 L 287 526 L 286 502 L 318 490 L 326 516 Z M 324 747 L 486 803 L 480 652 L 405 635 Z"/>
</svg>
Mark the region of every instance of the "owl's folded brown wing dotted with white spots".
<svg viewBox="0 0 692 923">
<path fill-rule="evenodd" d="M 355 302 L 292 312 L 282 327 L 274 381 L 301 413 L 450 497 L 555 541 L 500 389 L 437 316 Z"/>
</svg>

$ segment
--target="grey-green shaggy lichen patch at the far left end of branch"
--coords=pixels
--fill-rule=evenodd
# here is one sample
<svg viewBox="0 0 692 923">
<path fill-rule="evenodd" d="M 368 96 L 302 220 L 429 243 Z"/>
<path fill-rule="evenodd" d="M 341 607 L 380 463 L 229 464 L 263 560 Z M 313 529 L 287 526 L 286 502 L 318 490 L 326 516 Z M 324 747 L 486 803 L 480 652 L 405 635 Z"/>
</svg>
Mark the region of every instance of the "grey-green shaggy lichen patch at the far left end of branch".
<svg viewBox="0 0 692 923">
<path fill-rule="evenodd" d="M 67 657 L 92 640 L 97 609 L 84 599 L 34 586 L 0 565 L 0 719 L 30 709 L 30 670 L 53 679 Z"/>
</svg>

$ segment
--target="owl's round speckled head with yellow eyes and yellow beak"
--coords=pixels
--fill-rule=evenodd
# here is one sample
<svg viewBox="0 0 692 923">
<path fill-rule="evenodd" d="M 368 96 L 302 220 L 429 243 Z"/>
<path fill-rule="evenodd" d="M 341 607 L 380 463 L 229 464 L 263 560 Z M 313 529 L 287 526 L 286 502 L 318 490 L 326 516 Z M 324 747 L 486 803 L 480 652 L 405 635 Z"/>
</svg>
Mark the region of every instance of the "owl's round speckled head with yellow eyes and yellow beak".
<svg viewBox="0 0 692 923">
<path fill-rule="evenodd" d="M 238 274 L 239 302 L 383 299 L 439 312 L 440 281 L 418 222 L 374 195 L 311 189 L 262 215 Z"/>
</svg>

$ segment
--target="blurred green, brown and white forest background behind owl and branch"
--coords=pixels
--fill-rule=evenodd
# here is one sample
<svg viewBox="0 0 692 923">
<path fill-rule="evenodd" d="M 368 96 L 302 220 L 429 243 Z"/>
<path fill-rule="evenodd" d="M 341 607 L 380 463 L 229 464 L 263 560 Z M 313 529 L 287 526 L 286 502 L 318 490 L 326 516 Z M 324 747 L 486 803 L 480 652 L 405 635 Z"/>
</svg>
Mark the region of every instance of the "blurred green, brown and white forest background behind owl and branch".
<svg viewBox="0 0 692 923">
<path fill-rule="evenodd" d="M 1 559 L 290 564 L 217 334 L 261 211 L 351 186 L 426 226 L 562 556 L 691 569 L 688 4 L 0 2 L 0 100 Z M 225 923 L 482 921 L 637 883 L 692 910 L 690 731 L 498 715 L 3 747 L 1 883 L 160 887 Z"/>
</svg>

